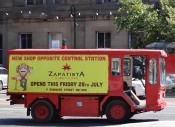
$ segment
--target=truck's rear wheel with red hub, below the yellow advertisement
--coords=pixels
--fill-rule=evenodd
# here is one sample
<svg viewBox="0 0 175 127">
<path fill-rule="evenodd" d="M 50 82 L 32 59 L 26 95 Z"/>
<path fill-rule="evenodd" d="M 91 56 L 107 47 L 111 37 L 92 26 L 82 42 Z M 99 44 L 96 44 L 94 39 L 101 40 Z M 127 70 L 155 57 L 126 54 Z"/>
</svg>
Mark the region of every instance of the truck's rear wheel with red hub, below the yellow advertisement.
<svg viewBox="0 0 175 127">
<path fill-rule="evenodd" d="M 47 123 L 53 120 L 55 117 L 54 112 L 54 107 L 46 100 L 38 100 L 31 107 L 32 118 L 40 123 Z"/>
</svg>

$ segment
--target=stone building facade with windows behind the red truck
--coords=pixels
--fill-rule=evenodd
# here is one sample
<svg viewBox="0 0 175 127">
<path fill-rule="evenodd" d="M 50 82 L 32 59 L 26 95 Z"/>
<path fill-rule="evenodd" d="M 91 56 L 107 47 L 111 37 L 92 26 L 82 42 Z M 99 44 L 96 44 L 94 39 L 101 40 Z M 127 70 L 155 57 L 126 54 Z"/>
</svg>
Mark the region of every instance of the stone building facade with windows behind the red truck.
<svg viewBox="0 0 175 127">
<path fill-rule="evenodd" d="M 128 48 L 127 31 L 117 32 L 118 0 L 0 0 L 0 64 L 7 50 Z"/>
</svg>

